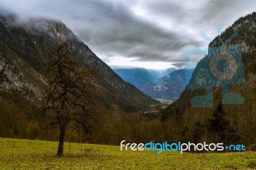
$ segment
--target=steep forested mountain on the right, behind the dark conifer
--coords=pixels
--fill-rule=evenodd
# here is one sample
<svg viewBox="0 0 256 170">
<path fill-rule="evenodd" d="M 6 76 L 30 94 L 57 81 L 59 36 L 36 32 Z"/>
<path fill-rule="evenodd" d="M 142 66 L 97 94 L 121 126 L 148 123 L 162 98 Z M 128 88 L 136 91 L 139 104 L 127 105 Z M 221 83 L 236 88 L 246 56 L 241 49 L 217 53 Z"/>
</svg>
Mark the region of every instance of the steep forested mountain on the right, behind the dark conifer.
<svg viewBox="0 0 256 170">
<path fill-rule="evenodd" d="M 196 65 L 179 100 L 162 109 L 162 120 L 168 120 L 172 132 L 179 127 L 173 138 L 193 139 L 193 133 L 211 120 L 213 108 L 223 104 L 226 118 L 243 143 L 256 143 L 255 56 L 256 12 L 253 12 L 236 20 L 209 43 L 208 54 Z M 211 137 L 214 136 L 206 136 L 205 140 Z"/>
</svg>

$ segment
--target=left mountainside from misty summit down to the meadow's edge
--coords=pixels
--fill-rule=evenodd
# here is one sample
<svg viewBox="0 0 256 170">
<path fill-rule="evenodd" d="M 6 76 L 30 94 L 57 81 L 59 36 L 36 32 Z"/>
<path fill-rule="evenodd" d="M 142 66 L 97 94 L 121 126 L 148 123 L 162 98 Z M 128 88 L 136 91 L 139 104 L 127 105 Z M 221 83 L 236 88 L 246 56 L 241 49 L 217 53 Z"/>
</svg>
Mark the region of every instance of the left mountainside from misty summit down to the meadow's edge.
<svg viewBox="0 0 256 170">
<path fill-rule="evenodd" d="M 1 137 L 58 139 L 58 126 L 45 129 L 51 120 L 38 105 L 48 88 L 45 68 L 52 57 L 52 47 L 58 41 L 67 42 L 70 53 L 74 54 L 83 66 L 81 69 L 90 72 L 95 91 L 93 91 L 93 102 L 89 102 L 92 102 L 92 107 L 99 112 L 99 122 L 104 122 L 93 128 L 97 130 L 97 135 L 86 134 L 86 138 L 81 128 L 77 127 L 78 130 L 74 131 L 74 127 L 69 127 L 69 132 L 75 135 L 73 141 L 88 140 L 102 143 L 104 140 L 104 143 L 108 143 L 106 133 L 109 132 L 109 138 L 114 136 L 116 138 L 116 141 L 113 139 L 111 143 L 117 143 L 115 128 L 120 124 L 118 123 L 120 117 L 131 112 L 138 114 L 147 111 L 157 112 L 160 102 L 125 82 L 62 22 L 45 19 L 19 22 L 19 18 L 15 15 L 2 15 L 0 17 Z M 95 131 L 92 133 L 96 133 Z M 30 132 L 33 135 L 29 135 Z"/>
</svg>

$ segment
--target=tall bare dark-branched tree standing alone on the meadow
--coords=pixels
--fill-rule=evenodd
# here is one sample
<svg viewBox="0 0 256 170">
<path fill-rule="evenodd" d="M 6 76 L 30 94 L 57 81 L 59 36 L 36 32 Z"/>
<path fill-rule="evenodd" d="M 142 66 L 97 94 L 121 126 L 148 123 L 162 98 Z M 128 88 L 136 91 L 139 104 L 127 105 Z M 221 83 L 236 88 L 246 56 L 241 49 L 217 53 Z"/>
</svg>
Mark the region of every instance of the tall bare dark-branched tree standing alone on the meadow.
<svg viewBox="0 0 256 170">
<path fill-rule="evenodd" d="M 68 123 L 82 127 L 85 131 L 93 125 L 94 82 L 90 73 L 70 53 L 67 43 L 58 42 L 52 49 L 52 58 L 47 67 L 49 88 L 44 97 L 44 109 L 53 112 L 48 126 L 58 124 L 60 138 L 57 155 L 63 155 L 64 137 Z"/>
</svg>

